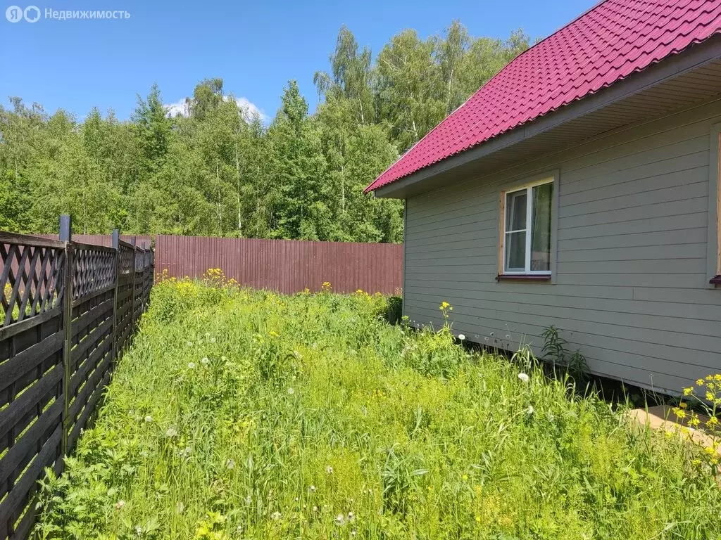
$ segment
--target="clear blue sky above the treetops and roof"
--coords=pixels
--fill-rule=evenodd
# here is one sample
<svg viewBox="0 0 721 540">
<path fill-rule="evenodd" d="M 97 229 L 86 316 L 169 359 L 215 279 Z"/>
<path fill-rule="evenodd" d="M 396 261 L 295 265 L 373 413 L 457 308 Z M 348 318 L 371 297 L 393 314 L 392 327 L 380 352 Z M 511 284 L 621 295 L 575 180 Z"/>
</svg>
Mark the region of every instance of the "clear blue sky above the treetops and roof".
<svg viewBox="0 0 721 540">
<path fill-rule="evenodd" d="M 22 1 L 22 3 L 21 3 Z M 0 4 L 0 100 L 21 96 L 53 112 L 82 118 L 93 107 L 128 118 L 136 94 L 157 83 L 164 102 L 179 102 L 203 78 L 272 117 L 283 86 L 295 78 L 315 107 L 313 73 L 328 68 L 338 29 L 346 24 L 373 55 L 392 35 L 414 28 L 422 37 L 454 19 L 471 35 L 507 37 L 522 28 L 545 37 L 596 0 L 205 1 L 33 0 L 53 10 L 124 10 L 129 19 L 9 22 Z"/>
</svg>

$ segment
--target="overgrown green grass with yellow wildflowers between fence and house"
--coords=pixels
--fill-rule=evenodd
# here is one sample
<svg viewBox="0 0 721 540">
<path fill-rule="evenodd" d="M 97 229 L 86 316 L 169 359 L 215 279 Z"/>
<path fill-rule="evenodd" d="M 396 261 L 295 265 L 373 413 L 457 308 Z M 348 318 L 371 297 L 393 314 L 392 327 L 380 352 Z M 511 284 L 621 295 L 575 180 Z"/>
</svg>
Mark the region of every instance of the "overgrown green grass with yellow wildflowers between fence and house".
<svg viewBox="0 0 721 540">
<path fill-rule="evenodd" d="M 157 285 L 40 537 L 721 538 L 702 452 L 388 310 Z"/>
</svg>

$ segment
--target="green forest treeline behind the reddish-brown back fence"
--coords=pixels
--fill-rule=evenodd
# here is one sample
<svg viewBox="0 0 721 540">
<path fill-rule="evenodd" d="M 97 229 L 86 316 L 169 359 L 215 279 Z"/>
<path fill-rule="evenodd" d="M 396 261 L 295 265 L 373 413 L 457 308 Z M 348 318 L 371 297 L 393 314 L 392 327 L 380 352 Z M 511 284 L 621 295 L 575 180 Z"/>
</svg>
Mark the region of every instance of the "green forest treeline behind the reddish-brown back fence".
<svg viewBox="0 0 721 540">
<path fill-rule="evenodd" d="M 288 81 L 270 122 L 221 78 L 174 117 L 157 86 L 125 121 L 12 97 L 0 107 L 0 229 L 52 233 L 69 212 L 78 233 L 399 242 L 402 202 L 363 188 L 528 45 L 521 31 L 471 37 L 454 22 L 425 40 L 404 30 L 373 58 L 342 27 L 314 74 L 316 111 Z"/>
</svg>

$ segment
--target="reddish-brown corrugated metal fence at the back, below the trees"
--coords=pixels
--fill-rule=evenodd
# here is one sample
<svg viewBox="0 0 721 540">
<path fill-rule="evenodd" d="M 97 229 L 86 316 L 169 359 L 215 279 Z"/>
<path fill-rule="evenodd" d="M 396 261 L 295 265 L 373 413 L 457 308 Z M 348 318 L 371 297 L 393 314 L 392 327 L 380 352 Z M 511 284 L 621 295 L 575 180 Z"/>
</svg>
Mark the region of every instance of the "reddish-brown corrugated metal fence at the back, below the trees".
<svg viewBox="0 0 721 540">
<path fill-rule="evenodd" d="M 219 268 L 226 278 L 255 289 L 392 294 L 403 284 L 403 246 L 304 240 L 167 236 L 155 238 L 156 274 L 200 277 Z"/>
</svg>

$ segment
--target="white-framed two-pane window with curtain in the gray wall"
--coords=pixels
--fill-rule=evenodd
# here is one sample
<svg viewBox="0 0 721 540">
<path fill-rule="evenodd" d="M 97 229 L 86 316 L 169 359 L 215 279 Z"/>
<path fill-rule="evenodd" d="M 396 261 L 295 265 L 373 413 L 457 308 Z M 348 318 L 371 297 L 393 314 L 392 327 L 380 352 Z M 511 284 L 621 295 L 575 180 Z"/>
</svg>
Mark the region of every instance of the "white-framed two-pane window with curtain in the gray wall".
<svg viewBox="0 0 721 540">
<path fill-rule="evenodd" d="M 501 194 L 499 274 L 551 275 L 553 179 Z"/>
</svg>

